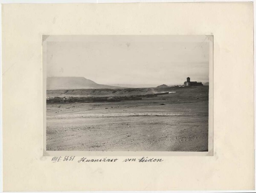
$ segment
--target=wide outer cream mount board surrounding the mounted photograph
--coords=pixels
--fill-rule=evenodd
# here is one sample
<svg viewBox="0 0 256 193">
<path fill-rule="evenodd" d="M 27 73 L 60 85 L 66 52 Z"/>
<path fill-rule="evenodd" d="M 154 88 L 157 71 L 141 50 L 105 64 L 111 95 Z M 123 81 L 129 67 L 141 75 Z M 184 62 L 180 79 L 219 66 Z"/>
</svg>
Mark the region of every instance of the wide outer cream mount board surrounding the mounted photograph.
<svg viewBox="0 0 256 193">
<path fill-rule="evenodd" d="M 213 156 L 114 164 L 42 156 L 49 34 L 214 35 Z M 253 3 L 4 4 L 2 48 L 4 191 L 254 188 Z"/>
</svg>

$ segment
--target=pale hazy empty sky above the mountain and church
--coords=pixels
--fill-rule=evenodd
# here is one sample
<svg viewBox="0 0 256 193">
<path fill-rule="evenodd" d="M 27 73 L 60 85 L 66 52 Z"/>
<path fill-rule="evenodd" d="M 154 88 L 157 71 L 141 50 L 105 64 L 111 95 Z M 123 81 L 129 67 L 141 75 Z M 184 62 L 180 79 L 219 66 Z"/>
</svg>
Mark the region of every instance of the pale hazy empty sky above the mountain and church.
<svg viewBox="0 0 256 193">
<path fill-rule="evenodd" d="M 51 36 L 47 77 L 98 84 L 209 82 L 206 36 Z"/>
</svg>

